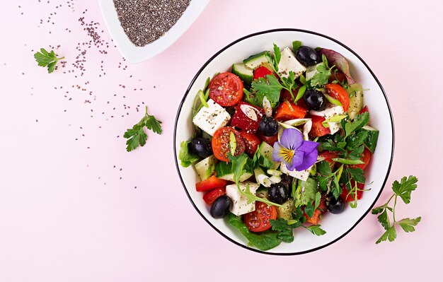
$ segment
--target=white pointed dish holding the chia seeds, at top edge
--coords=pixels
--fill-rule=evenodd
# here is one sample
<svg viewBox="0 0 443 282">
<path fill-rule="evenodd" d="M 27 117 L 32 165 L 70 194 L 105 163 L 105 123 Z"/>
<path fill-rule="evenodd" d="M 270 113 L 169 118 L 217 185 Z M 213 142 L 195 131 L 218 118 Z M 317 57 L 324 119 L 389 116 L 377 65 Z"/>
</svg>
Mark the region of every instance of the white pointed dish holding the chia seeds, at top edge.
<svg viewBox="0 0 443 282">
<path fill-rule="evenodd" d="M 209 0 L 192 0 L 188 8 L 186 8 L 183 15 L 177 20 L 177 23 L 168 30 L 165 35 L 151 44 L 144 47 L 135 46 L 125 34 L 120 20 L 115 11 L 113 0 L 99 0 L 100 9 L 105 19 L 106 26 L 109 33 L 115 42 L 115 45 L 128 61 L 132 63 L 139 63 L 146 59 L 156 56 L 163 52 L 169 46 L 173 45 L 178 38 L 185 33 L 186 30 L 194 23 L 194 21 L 200 16 L 200 13 L 205 9 Z"/>
</svg>

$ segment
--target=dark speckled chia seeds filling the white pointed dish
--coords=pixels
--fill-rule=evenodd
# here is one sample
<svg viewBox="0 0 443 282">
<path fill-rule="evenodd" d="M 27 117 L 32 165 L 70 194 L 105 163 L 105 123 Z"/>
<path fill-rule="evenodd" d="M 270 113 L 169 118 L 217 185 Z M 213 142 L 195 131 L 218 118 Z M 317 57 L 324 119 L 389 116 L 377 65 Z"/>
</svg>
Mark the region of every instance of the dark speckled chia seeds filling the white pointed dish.
<svg viewBox="0 0 443 282">
<path fill-rule="evenodd" d="M 170 30 L 189 4 L 190 0 L 114 0 L 123 30 L 140 47 Z"/>
</svg>

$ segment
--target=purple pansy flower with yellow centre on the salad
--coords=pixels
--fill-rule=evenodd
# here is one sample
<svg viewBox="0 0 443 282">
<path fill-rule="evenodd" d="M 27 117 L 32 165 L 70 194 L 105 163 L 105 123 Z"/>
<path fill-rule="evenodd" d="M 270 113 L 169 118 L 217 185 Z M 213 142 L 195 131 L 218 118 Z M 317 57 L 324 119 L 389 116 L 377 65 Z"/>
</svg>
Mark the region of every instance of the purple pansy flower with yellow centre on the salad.
<svg viewBox="0 0 443 282">
<path fill-rule="evenodd" d="M 272 158 L 283 162 L 288 170 L 307 170 L 316 163 L 320 143 L 304 141 L 303 135 L 297 129 L 284 129 L 280 142 L 274 143 Z"/>
</svg>

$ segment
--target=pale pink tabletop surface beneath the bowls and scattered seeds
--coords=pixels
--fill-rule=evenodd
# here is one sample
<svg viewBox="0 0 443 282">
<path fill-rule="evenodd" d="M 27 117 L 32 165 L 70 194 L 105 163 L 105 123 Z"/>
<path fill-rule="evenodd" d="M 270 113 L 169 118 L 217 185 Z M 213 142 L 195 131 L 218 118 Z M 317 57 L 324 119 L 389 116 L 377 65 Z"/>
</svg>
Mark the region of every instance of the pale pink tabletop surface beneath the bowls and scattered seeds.
<svg viewBox="0 0 443 282">
<path fill-rule="evenodd" d="M 74 2 L 3 1 L 0 10 L 0 281 L 442 276 L 439 1 L 213 0 L 176 44 L 142 64 L 123 61 L 112 44 L 108 54 L 87 49 L 83 76 L 69 72 L 77 44 L 91 40 L 79 18 L 99 23 L 102 40 L 110 37 L 98 1 Z M 271 28 L 329 35 L 372 68 L 396 125 L 389 185 L 377 204 L 393 180 L 418 176 L 412 202 L 398 205 L 399 217 L 422 216 L 415 233 L 376 246 L 382 229 L 368 215 L 326 249 L 270 257 L 225 240 L 191 206 L 172 152 L 180 100 L 212 54 Z M 50 75 L 33 60 L 35 49 L 49 45 L 61 45 L 57 53 L 67 60 Z M 142 117 L 142 102 L 163 121 L 163 134 L 149 132 L 144 148 L 127 153 L 122 134 Z"/>
</svg>

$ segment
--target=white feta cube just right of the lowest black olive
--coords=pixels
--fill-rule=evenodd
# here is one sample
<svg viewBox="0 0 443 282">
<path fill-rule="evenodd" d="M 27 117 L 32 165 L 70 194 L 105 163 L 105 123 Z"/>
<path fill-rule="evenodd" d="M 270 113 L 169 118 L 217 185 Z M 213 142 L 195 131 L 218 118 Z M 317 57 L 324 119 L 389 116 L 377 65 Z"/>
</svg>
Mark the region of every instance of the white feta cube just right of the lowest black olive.
<svg viewBox="0 0 443 282">
<path fill-rule="evenodd" d="M 259 186 L 257 183 L 246 181 L 239 184 L 240 189 L 243 192 L 246 191 L 246 187 L 248 185 L 251 193 L 255 194 L 255 191 L 257 191 Z M 231 213 L 234 213 L 236 216 L 241 216 L 242 214 L 255 211 L 255 201 L 253 201 L 251 204 L 248 204 L 248 198 L 240 194 L 236 184 L 226 186 L 226 195 L 229 196 L 229 198 L 231 198 L 232 200 L 232 205 L 231 208 L 229 208 L 229 211 L 231 211 Z"/>
</svg>

